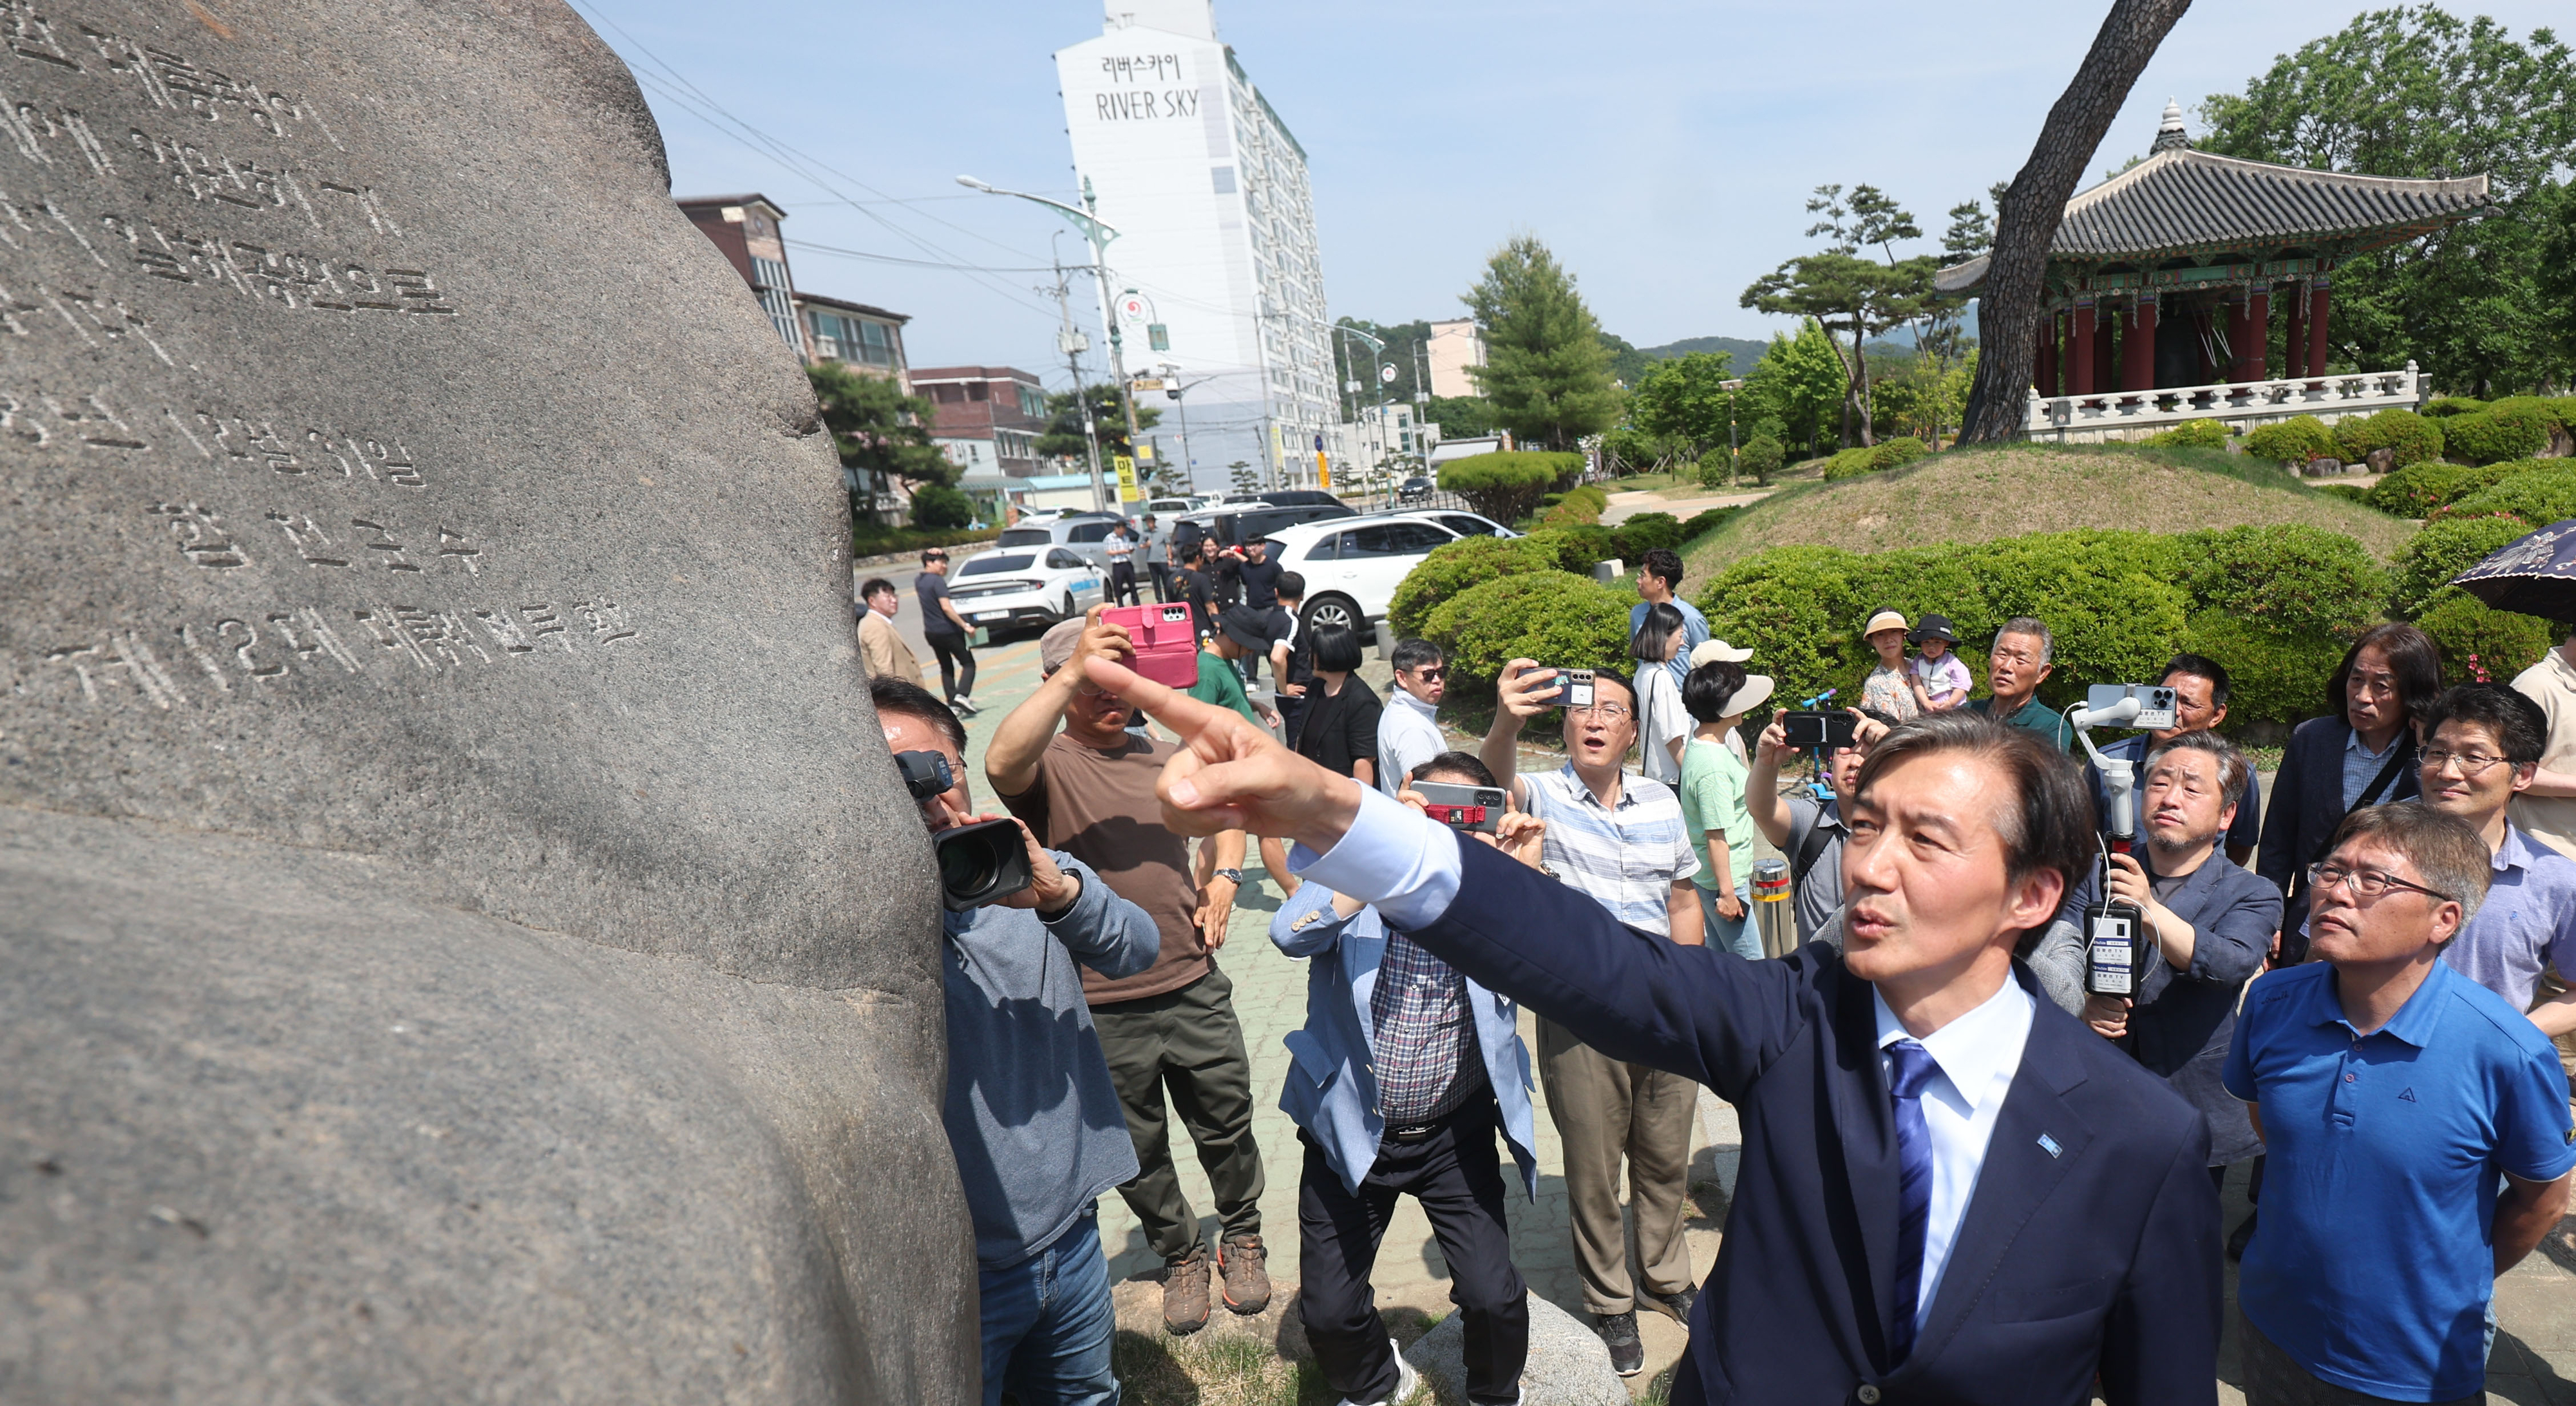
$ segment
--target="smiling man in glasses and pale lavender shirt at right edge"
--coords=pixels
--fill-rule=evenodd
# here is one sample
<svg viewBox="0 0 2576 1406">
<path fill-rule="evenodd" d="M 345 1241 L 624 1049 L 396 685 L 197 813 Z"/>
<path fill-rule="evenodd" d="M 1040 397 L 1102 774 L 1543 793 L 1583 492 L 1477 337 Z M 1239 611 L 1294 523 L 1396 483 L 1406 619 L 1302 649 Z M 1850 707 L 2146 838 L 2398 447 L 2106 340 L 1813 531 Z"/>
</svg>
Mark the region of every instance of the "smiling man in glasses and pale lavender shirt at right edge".
<svg viewBox="0 0 2576 1406">
<path fill-rule="evenodd" d="M 2527 1009 L 2543 1035 L 2576 1030 L 2576 991 L 2540 1004 L 2532 994 L 2548 968 L 2576 968 L 2576 860 L 2532 839 L 2506 809 L 2540 770 L 2548 713 L 2496 682 L 2465 682 L 2434 700 L 2419 760 L 2424 803 L 2468 821 L 2494 873 L 2486 904 L 2442 961 L 2460 976 Z"/>
</svg>

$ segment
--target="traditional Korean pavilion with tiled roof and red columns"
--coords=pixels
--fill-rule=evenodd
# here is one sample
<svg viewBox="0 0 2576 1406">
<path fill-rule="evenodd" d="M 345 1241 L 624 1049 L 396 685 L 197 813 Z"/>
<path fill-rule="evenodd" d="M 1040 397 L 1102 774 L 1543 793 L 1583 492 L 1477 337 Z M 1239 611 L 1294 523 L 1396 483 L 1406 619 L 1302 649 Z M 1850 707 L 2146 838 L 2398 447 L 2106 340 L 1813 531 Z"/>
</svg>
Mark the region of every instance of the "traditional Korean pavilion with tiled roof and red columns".
<svg viewBox="0 0 2576 1406">
<path fill-rule="evenodd" d="M 2084 430 L 2414 404 L 2424 394 L 2414 363 L 2318 381 L 2334 268 L 2486 203 L 2486 175 L 2398 180 L 2195 152 L 2182 108 L 2166 103 L 2143 162 L 2066 201 L 2048 247 L 2030 430 L 2107 438 Z M 1945 294 L 1984 281 L 1986 258 L 1937 276 Z M 2275 312 L 2290 319 L 2277 376 Z M 2081 399 L 2128 391 L 2179 394 Z"/>
</svg>

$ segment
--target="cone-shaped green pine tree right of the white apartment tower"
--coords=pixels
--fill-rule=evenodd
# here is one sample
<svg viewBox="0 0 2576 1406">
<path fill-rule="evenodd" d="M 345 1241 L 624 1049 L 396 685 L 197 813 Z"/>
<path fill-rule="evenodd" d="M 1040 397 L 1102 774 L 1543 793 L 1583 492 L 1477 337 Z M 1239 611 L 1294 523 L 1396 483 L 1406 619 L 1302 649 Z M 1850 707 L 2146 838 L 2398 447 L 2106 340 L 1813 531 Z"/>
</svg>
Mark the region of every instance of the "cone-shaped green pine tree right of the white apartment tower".
<svg viewBox="0 0 2576 1406">
<path fill-rule="evenodd" d="M 1466 306 L 1484 327 L 1484 366 L 1468 373 L 1520 443 L 1574 448 L 1618 425 L 1610 348 L 1546 245 L 1520 234 L 1497 250 Z"/>
</svg>

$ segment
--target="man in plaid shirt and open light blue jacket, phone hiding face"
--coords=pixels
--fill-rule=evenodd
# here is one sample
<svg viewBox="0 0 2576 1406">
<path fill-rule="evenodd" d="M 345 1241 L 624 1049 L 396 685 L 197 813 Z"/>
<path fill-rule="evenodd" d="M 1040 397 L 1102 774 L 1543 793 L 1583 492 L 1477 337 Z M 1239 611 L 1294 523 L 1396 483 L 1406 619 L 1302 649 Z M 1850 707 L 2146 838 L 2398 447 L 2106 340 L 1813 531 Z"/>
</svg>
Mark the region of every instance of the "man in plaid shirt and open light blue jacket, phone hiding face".
<svg viewBox="0 0 2576 1406">
<path fill-rule="evenodd" d="M 1494 785 L 1476 757 L 1443 752 L 1419 780 Z M 1419 801 L 1412 791 L 1399 793 Z M 1473 834 L 1538 863 L 1546 827 L 1525 814 L 1497 837 Z M 1368 1270 L 1412 1195 L 1430 1215 L 1466 1316 L 1466 1396 L 1520 1398 L 1530 1357 L 1530 1300 L 1512 1267 L 1502 1213 L 1502 1159 L 1512 1146 L 1522 1190 L 1538 1197 L 1530 1120 L 1530 1051 L 1517 1007 L 1458 976 L 1370 909 L 1306 883 L 1270 919 L 1270 940 L 1306 958 L 1306 1027 L 1288 1035 L 1280 1107 L 1306 1143 L 1298 1177 L 1298 1313 L 1324 1380 L 1345 1401 L 1404 1401 L 1419 1375 L 1386 1336 Z"/>
</svg>

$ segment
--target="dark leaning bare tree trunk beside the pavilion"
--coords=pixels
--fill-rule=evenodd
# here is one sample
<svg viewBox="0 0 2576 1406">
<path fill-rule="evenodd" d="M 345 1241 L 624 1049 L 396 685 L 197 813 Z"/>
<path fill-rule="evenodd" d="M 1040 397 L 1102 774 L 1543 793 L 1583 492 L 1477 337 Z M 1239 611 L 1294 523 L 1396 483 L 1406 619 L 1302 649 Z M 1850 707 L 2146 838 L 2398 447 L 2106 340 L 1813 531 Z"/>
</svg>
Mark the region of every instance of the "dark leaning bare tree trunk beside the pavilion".
<svg viewBox="0 0 2576 1406">
<path fill-rule="evenodd" d="M 2022 438 L 2048 245 L 2058 237 L 2066 198 L 2076 193 L 2076 180 L 2084 178 L 2138 72 L 2190 8 L 2192 0 L 2115 0 L 2074 82 L 2048 108 L 2040 139 L 2004 191 L 1996 216 L 1986 288 L 1976 304 L 1981 348 L 1976 384 L 1968 389 L 1958 443 Z"/>
</svg>

